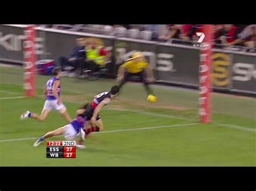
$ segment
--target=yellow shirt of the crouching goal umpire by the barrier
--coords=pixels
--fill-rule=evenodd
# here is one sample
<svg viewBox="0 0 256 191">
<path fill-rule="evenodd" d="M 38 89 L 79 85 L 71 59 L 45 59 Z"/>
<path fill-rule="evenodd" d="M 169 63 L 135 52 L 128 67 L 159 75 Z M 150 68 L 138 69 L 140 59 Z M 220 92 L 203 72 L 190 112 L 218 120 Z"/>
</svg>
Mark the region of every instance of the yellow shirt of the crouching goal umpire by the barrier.
<svg viewBox="0 0 256 191">
<path fill-rule="evenodd" d="M 149 63 L 145 60 L 136 62 L 134 59 L 126 60 L 121 67 L 125 67 L 126 71 L 132 74 L 142 72 L 144 68 L 149 67 Z"/>
</svg>

